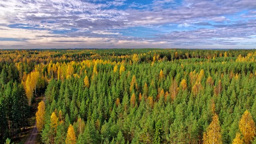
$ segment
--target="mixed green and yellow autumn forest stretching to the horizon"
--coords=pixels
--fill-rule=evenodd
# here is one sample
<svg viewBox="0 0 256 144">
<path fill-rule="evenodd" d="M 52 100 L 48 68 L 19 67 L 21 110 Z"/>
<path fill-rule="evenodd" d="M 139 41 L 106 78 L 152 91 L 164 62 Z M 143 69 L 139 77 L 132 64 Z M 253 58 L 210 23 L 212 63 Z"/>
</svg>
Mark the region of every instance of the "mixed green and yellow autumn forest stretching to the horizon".
<svg viewBox="0 0 256 144">
<path fill-rule="evenodd" d="M 256 144 L 256 50 L 0 50 L 0 112 L 1 144 Z"/>
</svg>

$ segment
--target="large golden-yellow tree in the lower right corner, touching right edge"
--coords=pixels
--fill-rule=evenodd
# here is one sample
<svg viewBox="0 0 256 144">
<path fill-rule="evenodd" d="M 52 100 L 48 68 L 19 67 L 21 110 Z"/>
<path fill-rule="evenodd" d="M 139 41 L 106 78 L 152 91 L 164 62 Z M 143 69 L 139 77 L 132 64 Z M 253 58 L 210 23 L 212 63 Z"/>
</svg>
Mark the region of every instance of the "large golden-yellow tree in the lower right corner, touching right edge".
<svg viewBox="0 0 256 144">
<path fill-rule="evenodd" d="M 244 112 L 241 120 L 239 121 L 239 130 L 243 135 L 245 144 L 250 144 L 254 136 L 256 136 L 255 122 L 253 121 L 253 117 L 248 110 Z"/>
</svg>

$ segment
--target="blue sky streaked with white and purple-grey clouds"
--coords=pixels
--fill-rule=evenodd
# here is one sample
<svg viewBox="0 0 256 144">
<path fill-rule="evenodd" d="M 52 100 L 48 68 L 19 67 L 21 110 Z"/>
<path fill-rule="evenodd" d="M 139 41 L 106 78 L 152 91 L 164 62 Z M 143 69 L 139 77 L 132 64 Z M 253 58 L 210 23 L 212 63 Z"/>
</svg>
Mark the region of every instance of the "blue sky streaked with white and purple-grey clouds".
<svg viewBox="0 0 256 144">
<path fill-rule="evenodd" d="M 0 0 L 0 49 L 256 48 L 253 0 Z"/>
</svg>

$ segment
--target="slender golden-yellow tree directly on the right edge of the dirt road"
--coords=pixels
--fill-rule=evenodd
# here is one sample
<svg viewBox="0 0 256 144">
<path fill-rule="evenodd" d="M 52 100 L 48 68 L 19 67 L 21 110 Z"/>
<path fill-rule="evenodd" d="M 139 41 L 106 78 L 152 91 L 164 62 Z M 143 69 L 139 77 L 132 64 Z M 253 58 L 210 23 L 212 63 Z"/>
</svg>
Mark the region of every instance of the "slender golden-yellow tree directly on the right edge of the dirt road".
<svg viewBox="0 0 256 144">
<path fill-rule="evenodd" d="M 36 119 L 36 128 L 39 132 L 42 131 L 44 127 L 44 115 L 45 115 L 45 104 L 44 101 L 41 101 L 38 104 L 38 111 L 35 113 L 35 119 Z"/>
</svg>

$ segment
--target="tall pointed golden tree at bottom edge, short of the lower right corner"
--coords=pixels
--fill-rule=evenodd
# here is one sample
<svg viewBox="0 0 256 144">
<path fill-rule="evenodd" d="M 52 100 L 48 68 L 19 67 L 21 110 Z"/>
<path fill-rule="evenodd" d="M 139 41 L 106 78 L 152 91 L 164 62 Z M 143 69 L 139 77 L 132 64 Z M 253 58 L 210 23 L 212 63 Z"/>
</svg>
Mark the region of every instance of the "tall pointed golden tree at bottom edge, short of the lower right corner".
<svg viewBox="0 0 256 144">
<path fill-rule="evenodd" d="M 221 126 L 219 124 L 218 115 L 212 116 L 212 122 L 207 127 L 203 135 L 204 144 L 222 144 Z"/>
</svg>

